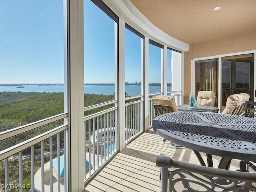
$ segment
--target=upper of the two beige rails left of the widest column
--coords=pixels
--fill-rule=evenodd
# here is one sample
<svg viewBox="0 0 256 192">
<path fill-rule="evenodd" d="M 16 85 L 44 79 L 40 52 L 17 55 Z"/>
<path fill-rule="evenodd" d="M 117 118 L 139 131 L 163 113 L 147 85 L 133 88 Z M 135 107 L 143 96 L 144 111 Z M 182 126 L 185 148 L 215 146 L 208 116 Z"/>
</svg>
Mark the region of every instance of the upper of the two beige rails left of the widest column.
<svg viewBox="0 0 256 192">
<path fill-rule="evenodd" d="M 61 120 L 66 117 L 68 117 L 68 114 L 62 113 L 62 114 L 51 116 L 51 117 L 48 117 L 48 118 L 45 118 L 45 119 L 42 119 L 42 120 L 39 120 L 39 121 L 36 121 L 33 123 L 29 123 L 29 124 L 22 125 L 22 126 L 10 129 L 10 130 L 0 132 L 0 141 L 5 140 L 10 137 L 13 137 L 13 136 L 16 136 L 16 135 L 19 135 L 19 134 L 22 134 L 24 132 L 30 131 L 30 130 L 38 128 L 40 126 L 50 124 L 57 120 Z"/>
</svg>

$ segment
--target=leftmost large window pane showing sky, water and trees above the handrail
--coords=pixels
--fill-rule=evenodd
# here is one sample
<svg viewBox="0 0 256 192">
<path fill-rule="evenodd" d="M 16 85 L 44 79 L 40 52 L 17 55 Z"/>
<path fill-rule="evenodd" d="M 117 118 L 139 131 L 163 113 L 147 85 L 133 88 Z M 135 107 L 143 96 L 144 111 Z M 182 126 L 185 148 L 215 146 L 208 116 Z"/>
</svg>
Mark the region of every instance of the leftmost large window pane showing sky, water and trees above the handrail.
<svg viewBox="0 0 256 192">
<path fill-rule="evenodd" d="M 0 131 L 64 112 L 63 1 L 0 4 Z"/>
</svg>

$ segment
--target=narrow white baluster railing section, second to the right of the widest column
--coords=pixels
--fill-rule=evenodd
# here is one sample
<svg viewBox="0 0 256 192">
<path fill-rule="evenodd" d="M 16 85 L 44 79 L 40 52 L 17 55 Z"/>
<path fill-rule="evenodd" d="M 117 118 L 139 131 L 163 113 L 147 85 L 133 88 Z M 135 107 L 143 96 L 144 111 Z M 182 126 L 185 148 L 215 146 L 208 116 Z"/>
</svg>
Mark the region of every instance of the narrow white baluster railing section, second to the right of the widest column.
<svg viewBox="0 0 256 192">
<path fill-rule="evenodd" d="M 141 96 L 129 97 L 126 100 L 141 98 Z M 132 138 L 143 132 L 143 100 L 137 100 L 125 104 L 125 142 L 127 143 Z"/>
</svg>

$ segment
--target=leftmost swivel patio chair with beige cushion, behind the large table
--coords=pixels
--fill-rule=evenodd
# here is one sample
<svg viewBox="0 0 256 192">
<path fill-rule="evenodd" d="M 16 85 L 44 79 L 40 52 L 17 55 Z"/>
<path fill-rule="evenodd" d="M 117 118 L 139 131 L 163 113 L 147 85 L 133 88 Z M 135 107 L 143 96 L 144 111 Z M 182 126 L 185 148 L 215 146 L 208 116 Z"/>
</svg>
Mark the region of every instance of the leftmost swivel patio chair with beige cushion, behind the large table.
<svg viewBox="0 0 256 192">
<path fill-rule="evenodd" d="M 152 98 L 152 103 L 157 116 L 171 112 L 178 112 L 175 99 L 172 96 L 154 96 Z M 165 138 L 162 139 L 162 144 L 170 148 L 184 148 L 183 146 L 179 146 L 174 144 L 173 142 L 167 141 Z"/>
</svg>

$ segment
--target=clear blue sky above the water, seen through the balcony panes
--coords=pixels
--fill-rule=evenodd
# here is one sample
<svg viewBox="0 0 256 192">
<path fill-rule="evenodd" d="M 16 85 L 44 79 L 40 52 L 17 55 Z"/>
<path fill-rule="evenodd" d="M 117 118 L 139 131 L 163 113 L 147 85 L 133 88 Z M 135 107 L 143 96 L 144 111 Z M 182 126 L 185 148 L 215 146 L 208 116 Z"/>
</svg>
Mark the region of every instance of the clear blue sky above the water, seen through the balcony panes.
<svg viewBox="0 0 256 192">
<path fill-rule="evenodd" d="M 1 0 L 0 84 L 63 83 L 63 1 Z M 141 40 L 126 29 L 125 81 L 141 81 Z M 149 81 L 160 82 L 161 51 L 149 48 Z M 84 82 L 114 82 L 114 21 L 84 0 Z"/>
</svg>

